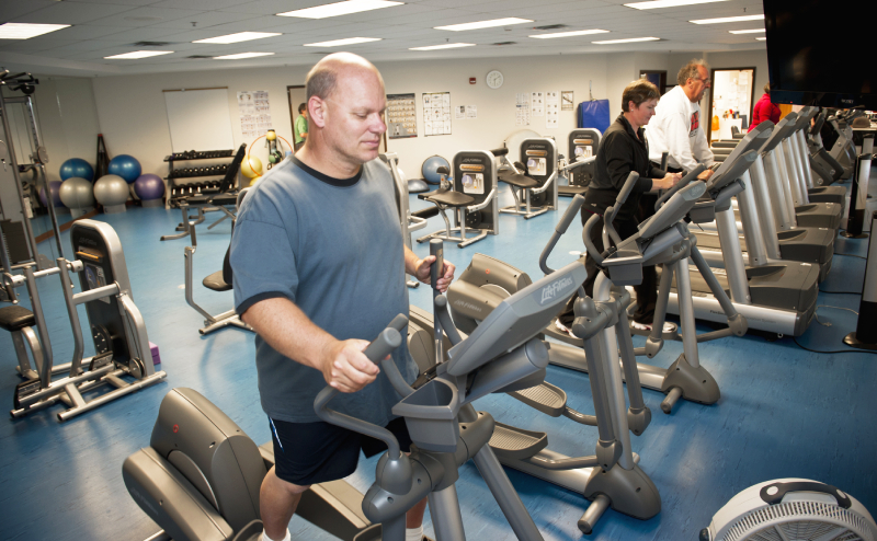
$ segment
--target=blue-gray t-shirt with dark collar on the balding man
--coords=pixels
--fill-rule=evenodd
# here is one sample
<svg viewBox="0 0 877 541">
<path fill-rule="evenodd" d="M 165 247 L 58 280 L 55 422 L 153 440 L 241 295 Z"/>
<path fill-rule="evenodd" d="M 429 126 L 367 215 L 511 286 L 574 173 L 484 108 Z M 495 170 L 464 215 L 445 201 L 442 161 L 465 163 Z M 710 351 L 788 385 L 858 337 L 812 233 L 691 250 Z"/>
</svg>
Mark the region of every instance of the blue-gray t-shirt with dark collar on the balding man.
<svg viewBox="0 0 877 541">
<path fill-rule="evenodd" d="M 394 194 L 389 170 L 378 160 L 344 180 L 294 157 L 275 166 L 247 194 L 235 226 L 230 262 L 238 313 L 285 297 L 335 338 L 367 341 L 397 314 L 408 314 Z M 412 382 L 417 366 L 405 339 L 392 358 Z M 314 399 L 326 387 L 319 370 L 283 356 L 258 335 L 255 365 L 262 408 L 270 417 L 319 421 Z M 381 371 L 365 389 L 339 393 L 330 406 L 383 426 L 399 400 Z"/>
</svg>

